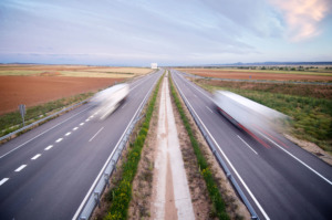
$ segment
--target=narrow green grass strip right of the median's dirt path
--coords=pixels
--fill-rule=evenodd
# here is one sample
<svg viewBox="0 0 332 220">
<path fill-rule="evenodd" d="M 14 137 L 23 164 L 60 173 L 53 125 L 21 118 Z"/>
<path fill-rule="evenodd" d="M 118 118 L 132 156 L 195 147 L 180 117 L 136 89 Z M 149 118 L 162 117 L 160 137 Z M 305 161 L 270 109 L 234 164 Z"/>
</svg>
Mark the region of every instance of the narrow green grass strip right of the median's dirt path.
<svg viewBox="0 0 332 220">
<path fill-rule="evenodd" d="M 176 104 L 176 107 L 179 112 L 179 115 L 181 117 L 181 121 L 185 125 L 185 128 L 188 133 L 188 136 L 190 138 L 190 143 L 191 143 L 191 146 L 194 148 L 194 151 L 195 151 L 195 155 L 196 155 L 196 158 L 197 158 L 197 163 L 198 163 L 198 166 L 200 168 L 200 174 L 201 176 L 204 177 L 205 179 L 205 182 L 206 182 L 206 186 L 207 186 L 207 189 L 208 189 L 208 193 L 209 193 L 209 197 L 212 201 L 212 205 L 214 205 L 214 208 L 216 210 L 216 214 L 219 219 L 229 219 L 229 216 L 228 213 L 226 212 L 226 205 L 225 205 L 225 201 L 221 197 L 221 193 L 218 189 L 218 186 L 215 181 L 215 178 L 214 178 L 214 175 L 211 172 L 211 169 L 207 163 L 207 159 L 205 158 L 204 154 L 201 153 L 200 148 L 199 148 L 199 144 L 197 142 L 197 139 L 195 138 L 195 135 L 194 135 L 194 132 L 190 127 L 190 123 L 189 123 L 189 119 L 188 117 L 186 116 L 185 112 L 184 112 L 184 108 L 183 108 L 183 105 L 181 105 L 181 102 L 176 93 L 176 90 L 173 85 L 173 81 L 172 81 L 172 77 L 169 76 L 169 85 L 170 85 L 170 92 L 172 92 L 172 96 L 174 97 L 174 101 L 175 101 L 175 104 Z"/>
</svg>

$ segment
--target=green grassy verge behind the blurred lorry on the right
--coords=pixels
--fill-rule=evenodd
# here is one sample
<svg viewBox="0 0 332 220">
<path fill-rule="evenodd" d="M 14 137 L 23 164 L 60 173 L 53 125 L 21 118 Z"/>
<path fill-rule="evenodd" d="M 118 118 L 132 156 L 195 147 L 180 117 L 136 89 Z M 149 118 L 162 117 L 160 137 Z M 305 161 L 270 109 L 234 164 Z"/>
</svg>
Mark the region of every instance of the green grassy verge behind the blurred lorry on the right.
<svg viewBox="0 0 332 220">
<path fill-rule="evenodd" d="M 210 85 L 200 81 L 201 87 L 212 92 L 215 90 L 227 90 L 245 97 L 248 97 L 262 105 L 277 109 L 291 117 L 289 121 L 290 133 L 300 139 L 315 143 L 322 149 L 332 154 L 332 98 L 331 86 L 324 95 L 320 92 L 303 92 L 293 86 L 291 91 L 282 86 L 277 91 L 259 90 L 258 87 L 247 87 L 228 84 L 228 86 Z M 291 93 L 291 94 L 287 94 Z"/>
</svg>

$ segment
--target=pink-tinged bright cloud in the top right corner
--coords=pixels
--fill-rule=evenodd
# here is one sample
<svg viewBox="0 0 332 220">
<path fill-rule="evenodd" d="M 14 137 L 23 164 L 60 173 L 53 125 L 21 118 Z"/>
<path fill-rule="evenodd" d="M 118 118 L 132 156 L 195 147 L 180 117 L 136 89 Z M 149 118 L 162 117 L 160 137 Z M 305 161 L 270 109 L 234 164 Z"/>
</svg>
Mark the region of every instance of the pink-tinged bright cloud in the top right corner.
<svg viewBox="0 0 332 220">
<path fill-rule="evenodd" d="M 320 34 L 318 24 L 329 13 L 329 0 L 270 0 L 287 23 L 287 35 L 298 42 Z"/>
</svg>

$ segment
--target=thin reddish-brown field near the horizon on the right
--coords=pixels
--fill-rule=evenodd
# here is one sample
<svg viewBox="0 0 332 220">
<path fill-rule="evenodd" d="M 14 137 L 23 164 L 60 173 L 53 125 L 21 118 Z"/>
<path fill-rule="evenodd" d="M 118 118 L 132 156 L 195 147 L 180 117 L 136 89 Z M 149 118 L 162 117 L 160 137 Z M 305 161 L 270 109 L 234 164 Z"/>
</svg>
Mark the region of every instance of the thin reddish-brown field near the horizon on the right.
<svg viewBox="0 0 332 220">
<path fill-rule="evenodd" d="M 270 81 L 305 81 L 305 82 L 331 82 L 332 74 L 292 72 L 261 72 L 261 71 L 231 71 L 231 70 L 207 70 L 207 69 L 179 69 L 179 71 L 191 73 L 204 77 L 235 78 L 235 80 L 270 80 Z"/>
</svg>

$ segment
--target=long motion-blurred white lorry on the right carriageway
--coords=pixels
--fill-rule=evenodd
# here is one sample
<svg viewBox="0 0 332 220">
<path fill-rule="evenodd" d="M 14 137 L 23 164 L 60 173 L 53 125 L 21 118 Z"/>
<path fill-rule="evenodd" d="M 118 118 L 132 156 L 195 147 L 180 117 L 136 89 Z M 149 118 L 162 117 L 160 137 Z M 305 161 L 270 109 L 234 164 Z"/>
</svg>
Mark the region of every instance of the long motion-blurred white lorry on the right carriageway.
<svg viewBox="0 0 332 220">
<path fill-rule="evenodd" d="M 248 133 L 281 132 L 287 115 L 228 91 L 217 91 L 214 102 L 232 124 Z"/>
</svg>

